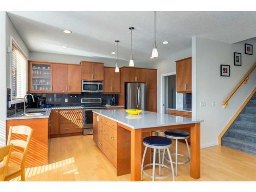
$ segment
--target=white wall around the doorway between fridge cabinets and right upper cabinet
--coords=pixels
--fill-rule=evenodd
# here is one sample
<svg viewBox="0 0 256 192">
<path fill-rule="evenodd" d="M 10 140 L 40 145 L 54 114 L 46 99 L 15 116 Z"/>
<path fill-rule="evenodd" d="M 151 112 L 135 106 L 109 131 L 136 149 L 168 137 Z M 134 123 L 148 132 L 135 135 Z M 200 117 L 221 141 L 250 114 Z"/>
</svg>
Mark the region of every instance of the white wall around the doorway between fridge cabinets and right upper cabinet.
<svg viewBox="0 0 256 192">
<path fill-rule="evenodd" d="M 161 112 L 161 75 L 176 72 L 176 60 L 180 60 L 191 56 L 191 49 L 186 49 L 177 53 L 170 54 L 168 59 L 156 60 L 157 68 L 157 111 Z M 158 58 L 157 58 L 158 59 Z"/>
</svg>

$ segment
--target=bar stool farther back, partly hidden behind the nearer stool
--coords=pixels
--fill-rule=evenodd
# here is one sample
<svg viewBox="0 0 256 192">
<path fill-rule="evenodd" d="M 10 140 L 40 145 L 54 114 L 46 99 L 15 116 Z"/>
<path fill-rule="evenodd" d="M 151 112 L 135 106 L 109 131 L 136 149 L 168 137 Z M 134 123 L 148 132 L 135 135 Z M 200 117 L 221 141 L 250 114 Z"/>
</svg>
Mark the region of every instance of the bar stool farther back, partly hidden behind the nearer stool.
<svg viewBox="0 0 256 192">
<path fill-rule="evenodd" d="M 186 164 L 190 161 L 190 150 L 187 143 L 187 139 L 189 138 L 189 133 L 181 130 L 170 130 L 170 131 L 164 132 L 164 135 L 169 139 L 175 139 L 175 154 L 171 154 L 171 155 L 175 155 L 175 162 L 173 163 L 175 164 L 175 176 L 178 176 L 178 164 Z M 178 154 L 178 140 L 180 139 L 184 139 L 186 141 L 188 156 L 185 156 L 183 154 Z M 178 162 L 178 155 L 185 157 L 187 161 Z M 163 151 L 162 164 L 164 163 L 164 159 L 170 162 L 170 160 L 165 157 L 165 150 Z"/>
</svg>

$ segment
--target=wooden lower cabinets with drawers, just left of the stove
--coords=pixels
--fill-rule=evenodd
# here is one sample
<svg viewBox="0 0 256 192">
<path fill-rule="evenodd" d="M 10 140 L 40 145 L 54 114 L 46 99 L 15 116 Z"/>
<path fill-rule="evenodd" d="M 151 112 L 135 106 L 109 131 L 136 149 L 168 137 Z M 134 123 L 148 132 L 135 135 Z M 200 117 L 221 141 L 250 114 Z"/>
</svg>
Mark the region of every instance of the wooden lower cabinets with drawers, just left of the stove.
<svg viewBox="0 0 256 192">
<path fill-rule="evenodd" d="M 52 110 L 51 137 L 82 134 L 82 109 Z"/>
</svg>

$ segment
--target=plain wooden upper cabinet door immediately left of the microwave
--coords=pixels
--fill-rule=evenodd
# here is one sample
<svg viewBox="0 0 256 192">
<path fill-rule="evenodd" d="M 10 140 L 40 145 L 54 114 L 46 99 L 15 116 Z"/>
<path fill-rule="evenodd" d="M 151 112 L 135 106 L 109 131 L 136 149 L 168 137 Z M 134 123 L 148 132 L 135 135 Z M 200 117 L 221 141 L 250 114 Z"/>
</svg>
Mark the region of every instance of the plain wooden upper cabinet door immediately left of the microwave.
<svg viewBox="0 0 256 192">
<path fill-rule="evenodd" d="M 82 66 L 68 65 L 68 92 L 82 92 Z"/>
</svg>

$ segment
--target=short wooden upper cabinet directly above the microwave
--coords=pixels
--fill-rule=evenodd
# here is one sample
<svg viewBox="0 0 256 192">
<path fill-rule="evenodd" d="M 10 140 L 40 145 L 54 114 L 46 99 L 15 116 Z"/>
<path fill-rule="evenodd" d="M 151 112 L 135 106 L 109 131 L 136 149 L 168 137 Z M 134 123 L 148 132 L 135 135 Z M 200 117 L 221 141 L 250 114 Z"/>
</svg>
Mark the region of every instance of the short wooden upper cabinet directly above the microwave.
<svg viewBox="0 0 256 192">
<path fill-rule="evenodd" d="M 104 80 L 104 63 L 81 61 L 83 80 Z"/>
</svg>

